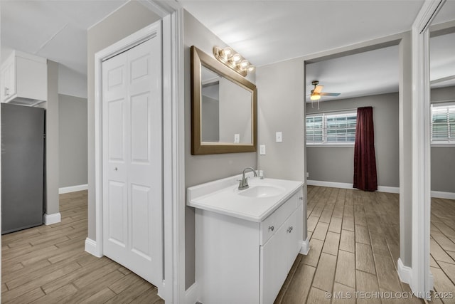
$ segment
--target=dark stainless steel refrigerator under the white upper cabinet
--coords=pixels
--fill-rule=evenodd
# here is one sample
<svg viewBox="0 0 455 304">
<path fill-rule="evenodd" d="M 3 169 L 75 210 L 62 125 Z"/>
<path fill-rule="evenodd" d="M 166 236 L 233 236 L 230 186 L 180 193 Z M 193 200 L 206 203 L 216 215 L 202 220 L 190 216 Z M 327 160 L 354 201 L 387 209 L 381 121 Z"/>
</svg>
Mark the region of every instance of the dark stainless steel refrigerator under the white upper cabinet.
<svg viewBox="0 0 455 304">
<path fill-rule="evenodd" d="M 43 224 L 45 110 L 1 103 L 1 234 Z"/>
</svg>

